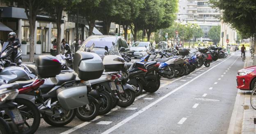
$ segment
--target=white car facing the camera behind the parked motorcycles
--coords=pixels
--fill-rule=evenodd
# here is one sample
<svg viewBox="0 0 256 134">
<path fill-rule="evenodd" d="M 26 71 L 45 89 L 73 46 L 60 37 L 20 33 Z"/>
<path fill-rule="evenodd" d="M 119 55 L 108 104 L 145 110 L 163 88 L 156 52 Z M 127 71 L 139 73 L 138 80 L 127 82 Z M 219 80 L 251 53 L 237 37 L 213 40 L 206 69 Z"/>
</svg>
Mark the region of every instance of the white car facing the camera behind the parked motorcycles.
<svg viewBox="0 0 256 134">
<path fill-rule="evenodd" d="M 130 50 L 135 51 L 133 53 L 134 58 L 138 57 L 144 57 L 146 55 L 147 49 L 151 46 L 150 42 L 135 42 L 133 45 L 130 47 Z"/>
</svg>

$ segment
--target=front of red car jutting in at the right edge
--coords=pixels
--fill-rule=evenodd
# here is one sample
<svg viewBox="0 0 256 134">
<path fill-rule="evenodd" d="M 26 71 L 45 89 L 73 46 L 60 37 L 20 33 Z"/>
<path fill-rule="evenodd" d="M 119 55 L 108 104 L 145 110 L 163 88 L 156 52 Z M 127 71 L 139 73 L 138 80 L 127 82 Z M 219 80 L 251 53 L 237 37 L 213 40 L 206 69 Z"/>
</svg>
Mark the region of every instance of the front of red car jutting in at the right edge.
<svg viewBox="0 0 256 134">
<path fill-rule="evenodd" d="M 240 90 L 253 90 L 256 85 L 256 66 L 249 66 L 238 71 L 236 76 L 237 88 Z"/>
</svg>

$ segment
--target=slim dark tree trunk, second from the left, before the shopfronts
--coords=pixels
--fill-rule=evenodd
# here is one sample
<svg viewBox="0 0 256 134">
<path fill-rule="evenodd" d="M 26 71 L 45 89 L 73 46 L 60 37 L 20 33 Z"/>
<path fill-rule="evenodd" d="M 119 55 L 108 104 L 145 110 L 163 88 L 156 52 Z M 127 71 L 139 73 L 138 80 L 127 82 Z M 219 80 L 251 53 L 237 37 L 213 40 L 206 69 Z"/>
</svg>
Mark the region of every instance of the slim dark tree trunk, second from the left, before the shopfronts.
<svg viewBox="0 0 256 134">
<path fill-rule="evenodd" d="M 57 19 L 56 19 L 56 25 L 57 25 L 57 55 L 60 54 L 60 49 L 61 49 L 61 22 L 62 22 L 62 11 L 63 7 L 58 7 L 57 8 Z"/>
</svg>

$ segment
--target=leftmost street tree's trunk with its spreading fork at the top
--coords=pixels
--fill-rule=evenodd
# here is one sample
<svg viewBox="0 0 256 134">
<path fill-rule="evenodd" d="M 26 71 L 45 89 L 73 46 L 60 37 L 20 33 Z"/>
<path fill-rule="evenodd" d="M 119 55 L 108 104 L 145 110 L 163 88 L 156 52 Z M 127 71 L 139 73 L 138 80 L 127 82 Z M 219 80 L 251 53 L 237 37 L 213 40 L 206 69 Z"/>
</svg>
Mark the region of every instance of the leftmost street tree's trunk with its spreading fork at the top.
<svg viewBox="0 0 256 134">
<path fill-rule="evenodd" d="M 29 62 L 34 62 L 34 32 L 36 28 L 37 15 L 45 6 L 46 0 L 6 0 L 7 2 L 17 2 L 19 7 L 24 7 L 30 24 L 30 56 Z"/>
</svg>

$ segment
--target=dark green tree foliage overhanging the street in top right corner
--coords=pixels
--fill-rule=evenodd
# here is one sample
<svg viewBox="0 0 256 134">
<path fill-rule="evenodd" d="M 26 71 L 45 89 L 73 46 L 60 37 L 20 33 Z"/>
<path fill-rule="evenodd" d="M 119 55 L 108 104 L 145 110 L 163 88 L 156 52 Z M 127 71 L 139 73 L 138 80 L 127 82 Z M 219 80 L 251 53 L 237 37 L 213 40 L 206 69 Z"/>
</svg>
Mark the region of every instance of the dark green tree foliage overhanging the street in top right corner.
<svg viewBox="0 0 256 134">
<path fill-rule="evenodd" d="M 209 0 L 213 8 L 222 13 L 221 19 L 240 31 L 243 37 L 256 33 L 255 0 Z"/>
</svg>

